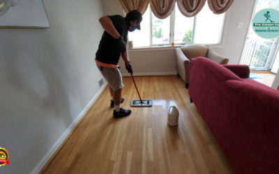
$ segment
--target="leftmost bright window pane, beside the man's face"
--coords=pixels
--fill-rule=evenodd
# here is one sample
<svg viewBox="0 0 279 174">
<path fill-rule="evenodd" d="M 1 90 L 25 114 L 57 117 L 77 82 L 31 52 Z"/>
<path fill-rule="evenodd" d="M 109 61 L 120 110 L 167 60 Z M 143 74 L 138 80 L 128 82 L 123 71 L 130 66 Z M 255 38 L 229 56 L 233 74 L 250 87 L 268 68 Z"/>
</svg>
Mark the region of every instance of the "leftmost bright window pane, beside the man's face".
<svg viewBox="0 0 279 174">
<path fill-rule="evenodd" d="M 140 30 L 128 32 L 129 40 L 133 41 L 133 47 L 150 46 L 150 13 L 151 10 L 148 7 L 146 12 L 142 16 L 142 22 L 140 22 Z"/>
</svg>

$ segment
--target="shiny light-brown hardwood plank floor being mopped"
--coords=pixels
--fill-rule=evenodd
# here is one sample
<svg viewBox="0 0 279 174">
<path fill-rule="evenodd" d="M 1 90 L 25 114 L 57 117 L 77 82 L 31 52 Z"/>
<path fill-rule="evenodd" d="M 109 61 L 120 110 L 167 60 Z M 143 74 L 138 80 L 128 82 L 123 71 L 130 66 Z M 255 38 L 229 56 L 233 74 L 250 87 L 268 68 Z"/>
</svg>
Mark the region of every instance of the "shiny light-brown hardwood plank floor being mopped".
<svg viewBox="0 0 279 174">
<path fill-rule="evenodd" d="M 126 118 L 112 118 L 106 88 L 42 173 L 233 173 L 206 124 L 175 76 L 135 77 L 142 99 L 152 107 L 130 107 L 139 99 L 123 77 Z M 167 125 L 169 106 L 179 125 Z"/>
</svg>

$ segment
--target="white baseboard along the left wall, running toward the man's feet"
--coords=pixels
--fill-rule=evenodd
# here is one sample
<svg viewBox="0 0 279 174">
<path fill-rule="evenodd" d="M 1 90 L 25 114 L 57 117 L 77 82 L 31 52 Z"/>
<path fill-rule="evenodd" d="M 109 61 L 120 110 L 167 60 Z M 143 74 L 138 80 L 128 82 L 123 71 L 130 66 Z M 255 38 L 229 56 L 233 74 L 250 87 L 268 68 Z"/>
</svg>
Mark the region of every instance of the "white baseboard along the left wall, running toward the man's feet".
<svg viewBox="0 0 279 174">
<path fill-rule="evenodd" d="M 92 100 L 89 102 L 89 104 L 87 104 L 87 106 L 85 106 L 83 111 L 77 116 L 77 118 L 75 118 L 75 120 L 72 122 L 72 124 L 70 124 L 70 126 L 60 136 L 60 138 L 56 141 L 56 143 L 54 143 L 54 145 L 52 145 L 52 148 L 50 148 L 50 150 L 47 151 L 47 153 L 45 154 L 43 159 L 41 159 L 40 162 L 37 164 L 37 166 L 35 168 L 33 168 L 33 171 L 31 171 L 31 174 L 37 174 L 40 172 L 40 170 L 42 170 L 42 168 L 45 166 L 45 164 L 47 164 L 47 161 L 50 160 L 50 158 L 52 157 L 54 152 L 56 152 L 56 150 L 60 147 L 61 143 L 63 143 L 63 141 L 67 138 L 68 134 L 70 134 L 70 132 L 75 127 L 75 125 L 77 125 L 77 122 L 80 121 L 80 119 L 84 116 L 86 111 L 91 107 L 93 102 L 95 102 L 97 100 L 97 98 L 103 92 L 103 90 L 105 89 L 106 86 L 107 86 L 107 81 L 104 82 L 103 86 L 98 90 L 98 93 L 96 93 L 96 95 L 92 98 Z"/>
</svg>

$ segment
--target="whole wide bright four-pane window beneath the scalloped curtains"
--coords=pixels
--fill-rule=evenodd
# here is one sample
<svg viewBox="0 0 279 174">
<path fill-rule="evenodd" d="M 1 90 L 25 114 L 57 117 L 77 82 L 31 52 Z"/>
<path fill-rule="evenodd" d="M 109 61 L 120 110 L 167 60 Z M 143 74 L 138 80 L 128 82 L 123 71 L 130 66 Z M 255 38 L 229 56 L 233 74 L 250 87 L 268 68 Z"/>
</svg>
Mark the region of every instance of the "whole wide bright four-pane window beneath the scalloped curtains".
<svg viewBox="0 0 279 174">
<path fill-rule="evenodd" d="M 170 45 L 172 42 L 176 45 L 213 45 L 220 43 L 225 13 L 213 14 L 206 2 L 195 17 L 185 17 L 175 5 L 172 14 L 165 19 L 158 19 L 150 7 L 142 18 L 141 30 L 128 35 L 133 47 Z"/>
</svg>

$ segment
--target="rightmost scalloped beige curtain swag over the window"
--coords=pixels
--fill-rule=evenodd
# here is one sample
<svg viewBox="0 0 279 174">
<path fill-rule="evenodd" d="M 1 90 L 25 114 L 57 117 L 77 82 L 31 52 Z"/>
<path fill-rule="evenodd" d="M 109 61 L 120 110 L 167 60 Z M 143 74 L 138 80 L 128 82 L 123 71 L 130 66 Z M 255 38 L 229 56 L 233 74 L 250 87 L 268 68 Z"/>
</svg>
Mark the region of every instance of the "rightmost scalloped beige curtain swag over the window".
<svg viewBox="0 0 279 174">
<path fill-rule="evenodd" d="M 226 12 L 230 6 L 232 6 L 232 2 L 234 0 L 207 0 L 209 3 L 209 8 L 215 14 L 221 14 Z"/>
</svg>

